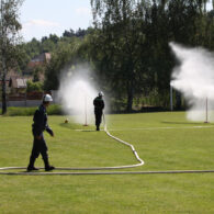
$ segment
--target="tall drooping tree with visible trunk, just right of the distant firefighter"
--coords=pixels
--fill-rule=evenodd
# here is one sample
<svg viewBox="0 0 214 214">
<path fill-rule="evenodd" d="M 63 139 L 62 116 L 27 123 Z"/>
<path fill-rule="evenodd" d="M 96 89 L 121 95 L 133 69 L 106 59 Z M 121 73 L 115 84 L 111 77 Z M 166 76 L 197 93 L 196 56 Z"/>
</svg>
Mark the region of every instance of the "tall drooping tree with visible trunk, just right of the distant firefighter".
<svg viewBox="0 0 214 214">
<path fill-rule="evenodd" d="M 100 70 L 114 90 L 126 93 L 126 110 L 132 111 L 138 82 L 147 77 L 143 65 L 145 54 L 145 2 L 135 0 L 92 0 L 94 25 L 99 35 Z M 100 50 L 99 50 L 100 49 Z"/>
</svg>

